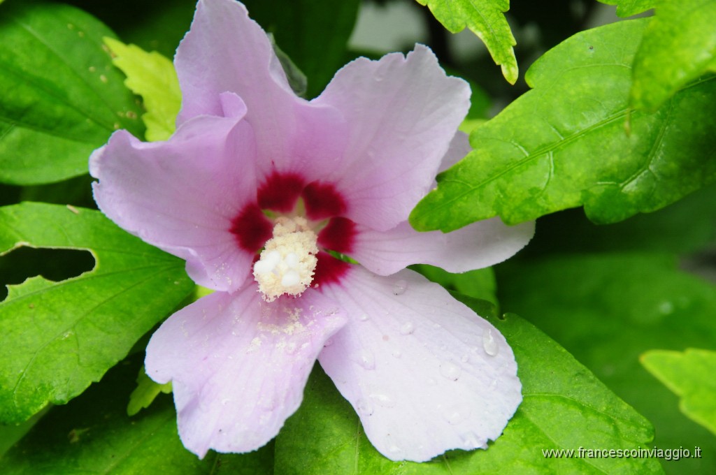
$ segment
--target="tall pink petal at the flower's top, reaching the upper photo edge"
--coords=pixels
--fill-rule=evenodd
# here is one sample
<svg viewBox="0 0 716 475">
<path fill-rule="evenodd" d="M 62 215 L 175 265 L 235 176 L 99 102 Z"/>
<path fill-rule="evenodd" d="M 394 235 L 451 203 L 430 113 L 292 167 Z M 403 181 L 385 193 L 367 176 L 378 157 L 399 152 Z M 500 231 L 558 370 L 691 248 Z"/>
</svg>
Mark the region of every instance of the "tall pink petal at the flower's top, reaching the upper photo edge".
<svg viewBox="0 0 716 475">
<path fill-rule="evenodd" d="M 222 92 L 248 107 L 258 147 L 259 177 L 299 172 L 308 182 L 335 167 L 346 141 L 342 114 L 291 91 L 266 33 L 233 0 L 200 0 L 175 65 L 182 89 L 178 123 L 221 115 Z"/>
</svg>

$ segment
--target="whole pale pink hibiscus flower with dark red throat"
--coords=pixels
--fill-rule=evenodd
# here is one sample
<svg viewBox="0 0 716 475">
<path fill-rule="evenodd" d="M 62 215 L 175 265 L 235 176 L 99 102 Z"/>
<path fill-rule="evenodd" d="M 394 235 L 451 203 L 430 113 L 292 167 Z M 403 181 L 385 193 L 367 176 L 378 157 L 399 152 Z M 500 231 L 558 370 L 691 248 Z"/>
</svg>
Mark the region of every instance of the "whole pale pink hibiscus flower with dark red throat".
<svg viewBox="0 0 716 475">
<path fill-rule="evenodd" d="M 521 401 L 511 348 L 405 270 L 485 267 L 533 234 L 498 219 L 448 235 L 407 224 L 440 167 L 468 150 L 455 135 L 468 84 L 416 46 L 357 59 L 301 99 L 233 0 L 199 1 L 175 66 L 173 136 L 117 131 L 90 171 L 105 215 L 215 290 L 147 346 L 147 374 L 173 383 L 183 444 L 200 457 L 263 446 L 299 407 L 316 359 L 390 459 L 497 438 Z"/>
</svg>

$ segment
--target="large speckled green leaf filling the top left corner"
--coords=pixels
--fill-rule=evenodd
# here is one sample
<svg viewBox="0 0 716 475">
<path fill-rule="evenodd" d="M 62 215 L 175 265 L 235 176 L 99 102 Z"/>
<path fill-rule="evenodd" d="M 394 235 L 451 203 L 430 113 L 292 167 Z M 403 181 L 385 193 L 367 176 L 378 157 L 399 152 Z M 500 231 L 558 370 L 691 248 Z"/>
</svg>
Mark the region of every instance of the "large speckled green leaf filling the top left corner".
<svg viewBox="0 0 716 475">
<path fill-rule="evenodd" d="M 82 175 L 115 129 L 141 135 L 140 107 L 103 36 L 112 31 L 71 6 L 0 7 L 0 182 Z"/>
</svg>

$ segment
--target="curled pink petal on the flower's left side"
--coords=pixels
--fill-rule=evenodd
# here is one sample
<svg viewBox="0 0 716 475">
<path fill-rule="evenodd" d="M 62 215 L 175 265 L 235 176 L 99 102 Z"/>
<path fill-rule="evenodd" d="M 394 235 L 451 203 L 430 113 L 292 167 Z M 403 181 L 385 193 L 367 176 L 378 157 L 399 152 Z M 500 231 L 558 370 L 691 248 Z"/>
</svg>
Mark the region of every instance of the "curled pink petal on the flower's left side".
<svg viewBox="0 0 716 475">
<path fill-rule="evenodd" d="M 256 147 L 241 121 L 241 99 L 224 99 L 236 117 L 196 117 L 167 142 L 117 131 L 92 154 L 89 170 L 100 180 L 95 201 L 107 217 L 185 259 L 196 283 L 235 290 L 253 254 L 229 230 L 243 206 L 256 201 Z"/>
</svg>

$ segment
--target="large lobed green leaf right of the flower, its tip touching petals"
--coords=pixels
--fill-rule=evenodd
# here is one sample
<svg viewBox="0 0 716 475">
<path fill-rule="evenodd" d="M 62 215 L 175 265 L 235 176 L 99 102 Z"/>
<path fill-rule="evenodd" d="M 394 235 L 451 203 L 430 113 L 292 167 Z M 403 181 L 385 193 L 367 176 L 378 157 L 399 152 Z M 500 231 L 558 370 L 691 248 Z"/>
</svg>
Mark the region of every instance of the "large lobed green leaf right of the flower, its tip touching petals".
<svg viewBox="0 0 716 475">
<path fill-rule="evenodd" d="M 412 225 L 450 231 L 495 215 L 512 224 L 579 205 L 594 222 L 618 222 L 716 180 L 716 77 L 657 112 L 630 112 L 648 21 L 584 31 L 538 59 L 526 77 L 534 89 L 475 129 L 475 150 L 438 175 Z"/>
</svg>

